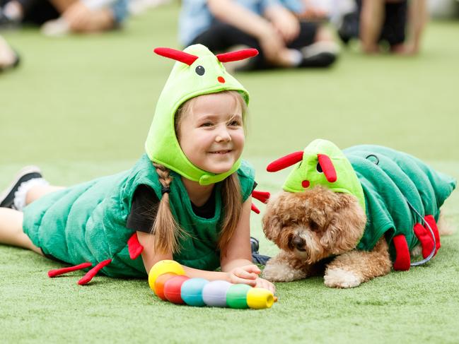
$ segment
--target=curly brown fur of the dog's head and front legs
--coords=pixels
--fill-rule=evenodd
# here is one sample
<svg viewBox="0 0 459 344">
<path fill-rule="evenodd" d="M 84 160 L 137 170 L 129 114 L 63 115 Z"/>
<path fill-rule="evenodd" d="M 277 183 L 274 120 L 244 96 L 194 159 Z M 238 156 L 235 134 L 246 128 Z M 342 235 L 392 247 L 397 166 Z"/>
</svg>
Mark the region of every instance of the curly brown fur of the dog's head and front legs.
<svg viewBox="0 0 459 344">
<path fill-rule="evenodd" d="M 384 237 L 372 251 L 355 249 L 365 225 L 366 215 L 355 196 L 323 186 L 282 191 L 269 201 L 263 216 L 266 237 L 281 249 L 268 261 L 263 276 L 288 282 L 325 268 L 325 285 L 346 288 L 387 275 L 392 261 Z"/>
</svg>

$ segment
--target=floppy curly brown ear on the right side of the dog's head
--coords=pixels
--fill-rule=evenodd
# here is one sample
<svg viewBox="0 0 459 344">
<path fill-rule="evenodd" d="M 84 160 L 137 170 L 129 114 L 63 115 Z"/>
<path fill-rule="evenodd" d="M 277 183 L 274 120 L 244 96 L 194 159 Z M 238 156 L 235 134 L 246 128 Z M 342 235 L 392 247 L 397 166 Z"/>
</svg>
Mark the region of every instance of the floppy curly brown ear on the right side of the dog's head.
<svg viewBox="0 0 459 344">
<path fill-rule="evenodd" d="M 357 198 L 349 194 L 337 196 L 330 222 L 320 238 L 320 244 L 332 254 L 354 249 L 366 225 L 366 215 Z"/>
</svg>

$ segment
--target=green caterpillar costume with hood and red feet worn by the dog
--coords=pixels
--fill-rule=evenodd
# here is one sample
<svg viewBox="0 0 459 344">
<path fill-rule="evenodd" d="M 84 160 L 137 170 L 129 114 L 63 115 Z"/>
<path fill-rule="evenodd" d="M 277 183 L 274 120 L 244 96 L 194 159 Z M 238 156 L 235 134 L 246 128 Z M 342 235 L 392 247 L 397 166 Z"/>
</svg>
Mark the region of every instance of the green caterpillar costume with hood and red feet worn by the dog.
<svg viewBox="0 0 459 344">
<path fill-rule="evenodd" d="M 396 270 L 409 269 L 409 251 L 419 243 L 424 259 L 436 254 L 436 221 L 455 179 L 397 150 L 371 145 L 340 150 L 321 139 L 272 162 L 267 170 L 276 172 L 300 161 L 283 189 L 301 192 L 322 185 L 356 196 L 368 219 L 357 249 L 373 249 L 384 235 Z"/>
</svg>

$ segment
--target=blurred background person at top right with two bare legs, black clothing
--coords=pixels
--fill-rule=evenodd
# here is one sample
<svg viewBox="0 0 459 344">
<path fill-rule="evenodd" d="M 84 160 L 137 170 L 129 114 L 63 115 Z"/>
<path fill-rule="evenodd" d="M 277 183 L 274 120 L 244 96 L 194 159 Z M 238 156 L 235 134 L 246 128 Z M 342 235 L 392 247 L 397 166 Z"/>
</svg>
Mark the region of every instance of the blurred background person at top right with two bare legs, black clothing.
<svg viewBox="0 0 459 344">
<path fill-rule="evenodd" d="M 367 54 L 382 52 L 381 43 L 395 54 L 417 54 L 428 17 L 426 0 L 356 0 L 338 32 L 344 43 L 359 39 Z"/>
</svg>

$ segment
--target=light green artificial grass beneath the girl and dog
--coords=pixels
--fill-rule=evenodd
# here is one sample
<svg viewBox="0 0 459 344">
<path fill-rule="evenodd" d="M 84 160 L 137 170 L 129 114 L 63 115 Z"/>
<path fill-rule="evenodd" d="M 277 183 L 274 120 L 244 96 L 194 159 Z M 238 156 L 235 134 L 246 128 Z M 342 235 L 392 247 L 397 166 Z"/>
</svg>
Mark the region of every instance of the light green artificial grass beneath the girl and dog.
<svg viewBox="0 0 459 344">
<path fill-rule="evenodd" d="M 159 8 L 106 35 L 5 35 L 23 65 L 0 76 L 0 188 L 30 163 L 63 185 L 132 166 L 172 66 L 151 49 L 178 47 L 176 11 Z M 286 176 L 264 172 L 269 161 L 318 137 L 405 150 L 458 178 L 458 29 L 431 23 L 418 57 L 351 49 L 328 71 L 240 74 L 252 95 L 245 158 L 260 189 L 277 191 Z M 445 210 L 458 227 L 458 192 Z M 252 234 L 263 237 L 260 216 Z M 442 244 L 428 265 L 352 290 L 322 278 L 278 283 L 279 302 L 264 311 L 159 302 L 144 280 L 97 277 L 80 287 L 81 273 L 47 278 L 58 263 L 1 246 L 0 342 L 457 343 L 459 235 Z M 277 249 L 262 239 L 261 251 Z"/>
</svg>

